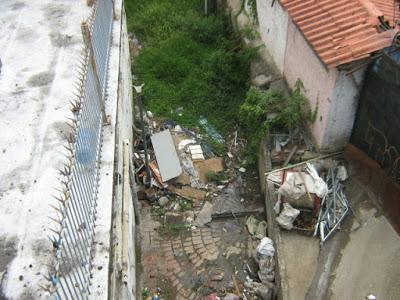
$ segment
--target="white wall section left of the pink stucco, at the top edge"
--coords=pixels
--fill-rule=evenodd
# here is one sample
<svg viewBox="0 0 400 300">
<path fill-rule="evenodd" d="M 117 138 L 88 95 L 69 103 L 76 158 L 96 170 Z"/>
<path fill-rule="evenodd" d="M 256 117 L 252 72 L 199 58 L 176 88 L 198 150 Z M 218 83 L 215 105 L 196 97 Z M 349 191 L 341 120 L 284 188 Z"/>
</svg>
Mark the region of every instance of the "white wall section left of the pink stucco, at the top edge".
<svg viewBox="0 0 400 300">
<path fill-rule="evenodd" d="M 281 74 L 284 72 L 288 14 L 273 0 L 257 0 L 261 38 Z"/>
</svg>

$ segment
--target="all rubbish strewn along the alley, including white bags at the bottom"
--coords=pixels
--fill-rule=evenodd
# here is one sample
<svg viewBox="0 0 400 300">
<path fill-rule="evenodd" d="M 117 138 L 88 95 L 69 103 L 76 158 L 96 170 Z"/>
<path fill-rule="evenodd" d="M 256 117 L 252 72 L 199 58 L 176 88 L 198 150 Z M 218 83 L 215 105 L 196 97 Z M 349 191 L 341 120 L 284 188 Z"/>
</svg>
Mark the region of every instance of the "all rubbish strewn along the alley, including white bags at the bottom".
<svg viewBox="0 0 400 300">
<path fill-rule="evenodd" d="M 189 231 L 212 228 L 213 220 L 231 219 L 236 226 L 244 230 L 247 227 L 257 242 L 254 247 L 259 244 L 254 255 L 250 251 L 251 257 L 245 260 L 239 248 L 224 245 L 225 251 L 218 258 L 224 261 L 221 266 L 235 257 L 239 265 L 243 263 L 243 269 L 238 274 L 240 267 L 235 265 L 228 275 L 229 270 L 216 265 L 199 275 L 201 287 L 207 292 L 201 289 L 198 293 L 208 294 L 203 299 L 273 299 L 273 242 L 266 237 L 267 222 L 256 218 L 263 214 L 262 207 L 248 205 L 245 200 L 249 195 L 253 198 L 252 189 L 244 180 L 249 173 L 243 158 L 246 140 L 237 131 L 224 138 L 205 118 L 200 118 L 198 128 L 187 129 L 174 121 L 155 120 L 149 111 L 144 115 L 148 129 L 145 135 L 141 132 L 134 145 L 135 177 L 140 189 L 138 198 L 145 200 L 142 204 L 150 206 L 152 216 L 161 221 L 157 229 L 160 236 L 171 237 L 166 234 L 171 234 L 167 232 L 171 229 L 184 230 L 185 236 Z M 223 226 L 222 232 L 229 234 L 229 229 Z M 152 293 L 144 292 L 145 298 L 150 299 Z M 164 296 L 160 291 L 152 298 Z"/>
</svg>

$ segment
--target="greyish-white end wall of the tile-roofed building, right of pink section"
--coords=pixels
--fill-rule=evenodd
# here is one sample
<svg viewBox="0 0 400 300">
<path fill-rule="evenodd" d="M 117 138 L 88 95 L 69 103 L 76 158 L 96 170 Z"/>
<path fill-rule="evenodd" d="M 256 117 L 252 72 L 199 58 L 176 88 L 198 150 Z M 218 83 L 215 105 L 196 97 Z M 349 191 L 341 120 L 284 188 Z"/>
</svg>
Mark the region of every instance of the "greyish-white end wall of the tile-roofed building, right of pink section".
<svg viewBox="0 0 400 300">
<path fill-rule="evenodd" d="M 322 145 L 340 149 L 349 141 L 366 68 L 354 74 L 338 72 Z"/>
</svg>

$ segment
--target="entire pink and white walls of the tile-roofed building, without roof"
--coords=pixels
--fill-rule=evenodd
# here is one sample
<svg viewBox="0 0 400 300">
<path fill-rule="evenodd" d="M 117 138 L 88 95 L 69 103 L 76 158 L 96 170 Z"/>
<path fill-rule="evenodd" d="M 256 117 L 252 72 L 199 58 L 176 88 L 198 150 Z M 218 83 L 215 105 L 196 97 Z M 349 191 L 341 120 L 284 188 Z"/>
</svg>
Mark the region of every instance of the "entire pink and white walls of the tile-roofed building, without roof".
<svg viewBox="0 0 400 300">
<path fill-rule="evenodd" d="M 314 111 L 318 106 L 316 120 L 310 124 L 316 145 L 342 148 L 351 135 L 365 70 L 346 76 L 328 68 L 279 1 L 257 0 L 257 12 L 261 38 L 289 88 L 301 79 L 309 108 Z"/>
</svg>

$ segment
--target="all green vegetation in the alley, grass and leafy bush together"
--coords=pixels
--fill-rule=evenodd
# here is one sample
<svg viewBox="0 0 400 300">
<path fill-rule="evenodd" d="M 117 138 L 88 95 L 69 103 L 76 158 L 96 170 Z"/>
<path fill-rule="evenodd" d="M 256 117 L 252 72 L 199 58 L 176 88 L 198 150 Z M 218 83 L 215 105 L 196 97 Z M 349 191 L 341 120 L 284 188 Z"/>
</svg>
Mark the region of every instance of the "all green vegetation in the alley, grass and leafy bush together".
<svg viewBox="0 0 400 300">
<path fill-rule="evenodd" d="M 243 0 L 256 18 L 256 1 Z M 223 135 L 240 125 L 248 140 L 248 164 L 254 164 L 261 138 L 268 130 L 290 131 L 304 112 L 302 83 L 290 97 L 276 90 L 250 88 L 250 62 L 257 49 L 244 47 L 242 37 L 255 38 L 251 26 L 241 31 L 219 12 L 204 16 L 202 0 L 126 0 L 128 30 L 143 44 L 133 73 L 144 87 L 144 103 L 164 119 L 185 127 L 205 116 Z M 274 118 L 268 118 L 271 113 Z M 208 139 L 218 154 L 224 145 Z M 209 174 L 218 180 L 220 174 Z M 217 175 L 217 176 L 213 176 Z M 186 206 L 183 203 L 183 206 Z M 163 211 L 158 211 L 160 215 Z"/>
</svg>

